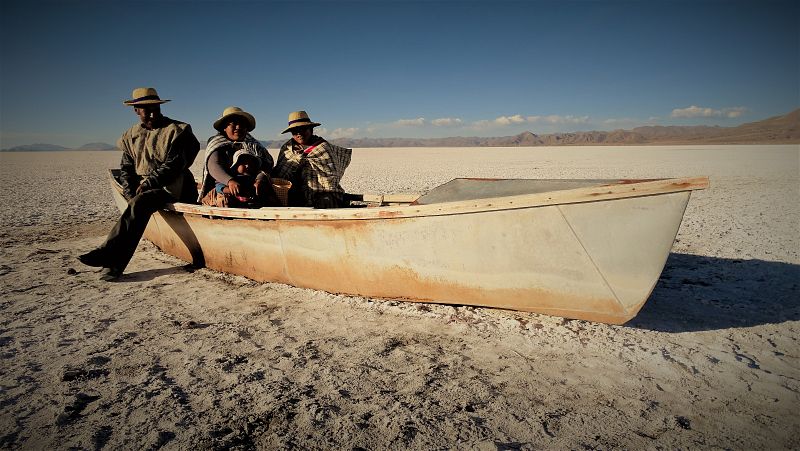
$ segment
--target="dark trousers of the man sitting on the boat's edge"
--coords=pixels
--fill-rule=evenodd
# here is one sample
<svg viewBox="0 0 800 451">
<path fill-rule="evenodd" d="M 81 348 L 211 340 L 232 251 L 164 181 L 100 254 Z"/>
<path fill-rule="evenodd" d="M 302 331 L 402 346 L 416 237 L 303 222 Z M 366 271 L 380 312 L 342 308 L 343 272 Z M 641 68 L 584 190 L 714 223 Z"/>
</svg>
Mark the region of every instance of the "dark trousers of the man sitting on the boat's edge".
<svg viewBox="0 0 800 451">
<path fill-rule="evenodd" d="M 128 208 L 111 229 L 106 242 L 98 248 L 108 267 L 123 271 L 128 266 L 150 216 L 170 202 L 175 202 L 175 199 L 163 189 L 143 191 L 128 201 Z"/>
</svg>

